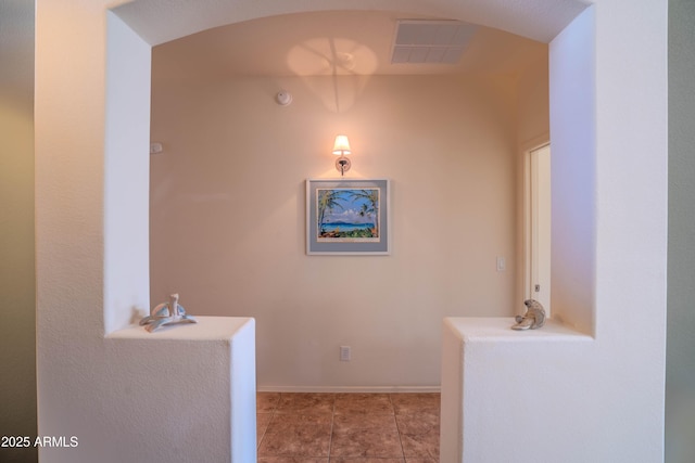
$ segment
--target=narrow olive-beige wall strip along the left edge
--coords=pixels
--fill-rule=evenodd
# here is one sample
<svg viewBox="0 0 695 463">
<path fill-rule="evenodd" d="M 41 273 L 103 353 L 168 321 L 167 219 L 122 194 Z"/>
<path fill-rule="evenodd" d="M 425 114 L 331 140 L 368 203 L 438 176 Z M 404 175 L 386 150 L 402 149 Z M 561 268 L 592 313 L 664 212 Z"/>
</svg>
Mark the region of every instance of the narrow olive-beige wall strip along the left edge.
<svg viewBox="0 0 695 463">
<path fill-rule="evenodd" d="M 36 435 L 34 2 L 0 2 L 0 435 Z M 36 461 L 0 448 L 0 461 Z"/>
</svg>

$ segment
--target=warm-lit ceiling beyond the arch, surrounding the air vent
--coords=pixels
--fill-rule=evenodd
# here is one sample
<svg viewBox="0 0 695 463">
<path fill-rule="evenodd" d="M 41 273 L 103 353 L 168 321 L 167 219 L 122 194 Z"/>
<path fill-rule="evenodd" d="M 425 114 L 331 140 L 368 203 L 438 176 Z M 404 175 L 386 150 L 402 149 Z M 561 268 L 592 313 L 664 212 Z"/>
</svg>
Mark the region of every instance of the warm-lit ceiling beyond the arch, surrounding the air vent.
<svg viewBox="0 0 695 463">
<path fill-rule="evenodd" d="M 397 12 L 331 11 L 263 17 L 153 49 L 153 77 L 483 74 L 515 75 L 545 60 L 547 46 L 478 27 L 457 64 L 391 63 Z"/>
</svg>

